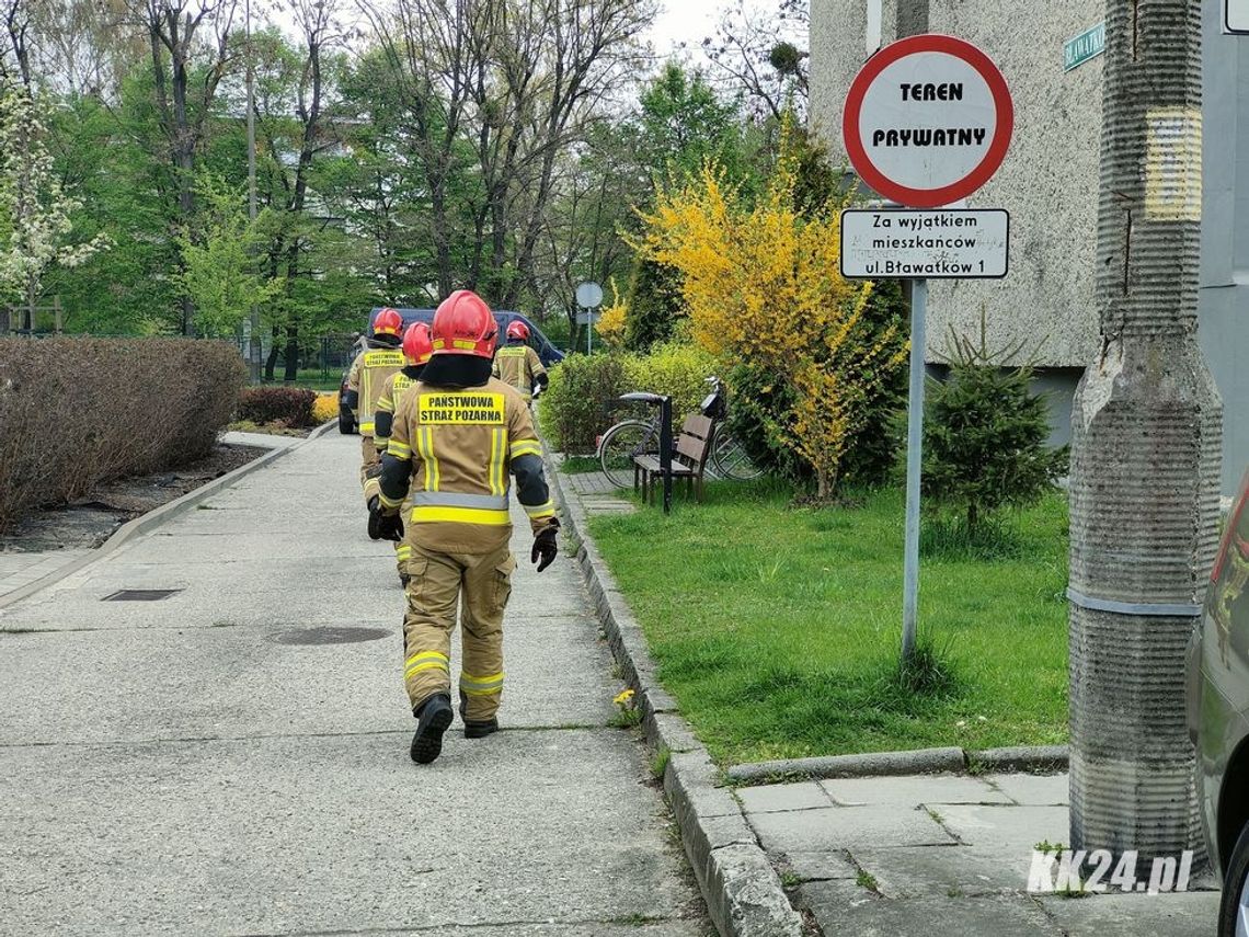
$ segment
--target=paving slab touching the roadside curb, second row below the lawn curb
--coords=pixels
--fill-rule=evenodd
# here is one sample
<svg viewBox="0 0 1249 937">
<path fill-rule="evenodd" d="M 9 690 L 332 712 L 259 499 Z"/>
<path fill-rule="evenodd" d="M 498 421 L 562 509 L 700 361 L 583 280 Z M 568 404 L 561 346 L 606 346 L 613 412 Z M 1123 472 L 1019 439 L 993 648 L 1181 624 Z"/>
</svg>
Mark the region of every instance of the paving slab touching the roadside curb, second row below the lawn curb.
<svg viewBox="0 0 1249 937">
<path fill-rule="evenodd" d="M 747 816 L 769 852 L 819 852 L 856 846 L 943 846 L 955 840 L 922 810 L 826 807 Z"/>
</svg>

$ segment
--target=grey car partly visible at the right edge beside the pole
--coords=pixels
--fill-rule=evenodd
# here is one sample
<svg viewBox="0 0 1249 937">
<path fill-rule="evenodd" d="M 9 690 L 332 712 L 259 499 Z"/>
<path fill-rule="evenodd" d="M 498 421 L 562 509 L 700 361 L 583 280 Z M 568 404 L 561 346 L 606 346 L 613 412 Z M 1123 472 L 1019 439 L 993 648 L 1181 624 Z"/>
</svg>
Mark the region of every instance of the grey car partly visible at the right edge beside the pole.
<svg viewBox="0 0 1249 937">
<path fill-rule="evenodd" d="M 1219 935 L 1249 937 L 1249 473 L 1232 505 L 1200 625 L 1188 647 L 1188 727 L 1210 862 L 1223 876 Z"/>
</svg>

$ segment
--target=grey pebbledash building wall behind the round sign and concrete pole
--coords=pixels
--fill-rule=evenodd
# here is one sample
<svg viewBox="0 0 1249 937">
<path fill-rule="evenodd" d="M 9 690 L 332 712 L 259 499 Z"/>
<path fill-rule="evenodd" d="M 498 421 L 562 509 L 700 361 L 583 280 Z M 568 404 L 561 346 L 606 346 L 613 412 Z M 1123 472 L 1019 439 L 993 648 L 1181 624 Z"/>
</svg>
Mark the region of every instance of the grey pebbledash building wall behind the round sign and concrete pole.
<svg viewBox="0 0 1249 937">
<path fill-rule="evenodd" d="M 1224 493 L 1249 467 L 1249 37 L 1220 34 L 1220 0 L 1205 2 L 1204 190 L 1200 337 L 1223 394 Z M 877 16 L 876 10 L 879 10 Z M 921 31 L 967 39 L 1005 75 L 1015 129 L 1005 164 L 968 201 L 1010 211 L 1010 274 L 1000 281 L 929 284 L 929 362 L 950 329 L 1035 351 L 1054 419 L 1070 439 L 1070 395 L 1093 361 L 1102 60 L 1063 71 L 1063 44 L 1104 19 L 1104 0 L 812 0 L 811 120 L 844 160 L 841 114 L 851 81 L 879 44 Z M 871 37 L 869 37 L 871 34 Z M 1039 350 L 1037 349 L 1040 345 Z"/>
</svg>

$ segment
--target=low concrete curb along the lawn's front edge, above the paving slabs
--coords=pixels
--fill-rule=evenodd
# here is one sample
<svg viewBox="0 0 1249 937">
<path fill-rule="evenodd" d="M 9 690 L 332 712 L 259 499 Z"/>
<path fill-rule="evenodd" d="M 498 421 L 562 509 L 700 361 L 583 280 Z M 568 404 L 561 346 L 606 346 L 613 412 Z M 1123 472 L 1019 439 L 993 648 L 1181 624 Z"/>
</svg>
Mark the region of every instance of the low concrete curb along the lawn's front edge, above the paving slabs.
<svg viewBox="0 0 1249 937">
<path fill-rule="evenodd" d="M 1067 770 L 1067 746 L 1018 746 L 1013 748 L 918 748 L 908 752 L 831 755 L 818 758 L 789 758 L 734 765 L 728 780 L 739 785 L 768 785 L 798 778 L 882 777 L 887 775 L 960 773 L 968 770 L 1025 771 L 1053 773 Z"/>
</svg>

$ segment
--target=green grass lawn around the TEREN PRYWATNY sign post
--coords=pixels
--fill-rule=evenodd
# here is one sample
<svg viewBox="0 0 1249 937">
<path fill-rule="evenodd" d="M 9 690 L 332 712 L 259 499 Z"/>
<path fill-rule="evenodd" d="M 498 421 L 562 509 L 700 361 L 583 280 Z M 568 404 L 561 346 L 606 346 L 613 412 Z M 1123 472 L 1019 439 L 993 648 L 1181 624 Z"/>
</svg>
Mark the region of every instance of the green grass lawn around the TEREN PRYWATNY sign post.
<svg viewBox="0 0 1249 937">
<path fill-rule="evenodd" d="M 948 666 L 917 692 L 897 667 L 902 492 L 791 508 L 768 481 L 703 505 L 591 518 L 659 676 L 722 765 L 1067 740 L 1067 501 L 1010 522 L 993 558 L 926 531 L 921 641 Z"/>
</svg>

